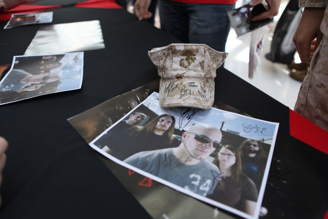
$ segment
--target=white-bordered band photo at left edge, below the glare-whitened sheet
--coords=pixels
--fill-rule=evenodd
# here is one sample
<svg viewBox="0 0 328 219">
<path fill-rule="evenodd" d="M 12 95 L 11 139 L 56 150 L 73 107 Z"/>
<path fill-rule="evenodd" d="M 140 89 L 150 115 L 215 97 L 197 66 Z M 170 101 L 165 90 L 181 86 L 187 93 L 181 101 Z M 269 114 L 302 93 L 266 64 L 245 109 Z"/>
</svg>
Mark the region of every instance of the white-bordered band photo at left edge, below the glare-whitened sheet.
<svg viewBox="0 0 328 219">
<path fill-rule="evenodd" d="M 83 52 L 14 56 L 0 81 L 0 105 L 50 93 L 80 89 Z"/>
</svg>

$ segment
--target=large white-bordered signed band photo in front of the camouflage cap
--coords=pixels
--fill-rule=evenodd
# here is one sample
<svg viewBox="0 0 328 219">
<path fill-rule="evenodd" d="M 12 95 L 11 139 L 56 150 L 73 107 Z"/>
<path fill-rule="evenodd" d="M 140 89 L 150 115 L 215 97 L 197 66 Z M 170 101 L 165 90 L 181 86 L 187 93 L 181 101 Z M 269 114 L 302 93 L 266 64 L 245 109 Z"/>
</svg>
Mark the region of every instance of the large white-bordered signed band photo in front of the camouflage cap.
<svg viewBox="0 0 328 219">
<path fill-rule="evenodd" d="M 134 123 L 129 127 L 127 121 Z M 146 129 L 149 134 L 140 134 Z M 155 130 L 164 134 L 158 138 L 156 135 L 160 134 Z M 277 130 L 278 123 L 215 108 L 161 108 L 158 93 L 153 93 L 92 140 L 90 146 L 114 162 L 177 191 L 244 218 L 258 218 Z M 166 140 L 167 135 L 171 141 Z M 230 167 L 241 162 L 238 148 L 247 139 L 265 139 L 260 145 L 265 162 L 258 167 L 264 169 L 264 174 L 256 185 L 239 167 L 236 186 L 237 181 L 232 179 L 236 171 Z M 200 145 L 205 149 L 200 149 Z M 187 158 L 178 155 L 178 148 L 186 149 Z M 221 193 L 230 202 L 222 201 Z"/>
</svg>

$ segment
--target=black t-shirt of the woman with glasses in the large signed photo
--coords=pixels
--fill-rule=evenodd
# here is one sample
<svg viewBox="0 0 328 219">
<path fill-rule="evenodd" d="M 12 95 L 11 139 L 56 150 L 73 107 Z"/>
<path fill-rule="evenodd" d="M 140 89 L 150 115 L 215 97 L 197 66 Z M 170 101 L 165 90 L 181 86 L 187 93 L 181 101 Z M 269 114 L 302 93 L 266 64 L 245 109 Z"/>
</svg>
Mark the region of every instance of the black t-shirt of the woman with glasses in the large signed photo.
<svg viewBox="0 0 328 219">
<path fill-rule="evenodd" d="M 246 175 L 241 174 L 239 183 L 230 177 L 221 177 L 213 194 L 207 196 L 230 207 L 240 208 L 242 201 L 257 201 L 258 192 L 255 183 Z"/>
</svg>

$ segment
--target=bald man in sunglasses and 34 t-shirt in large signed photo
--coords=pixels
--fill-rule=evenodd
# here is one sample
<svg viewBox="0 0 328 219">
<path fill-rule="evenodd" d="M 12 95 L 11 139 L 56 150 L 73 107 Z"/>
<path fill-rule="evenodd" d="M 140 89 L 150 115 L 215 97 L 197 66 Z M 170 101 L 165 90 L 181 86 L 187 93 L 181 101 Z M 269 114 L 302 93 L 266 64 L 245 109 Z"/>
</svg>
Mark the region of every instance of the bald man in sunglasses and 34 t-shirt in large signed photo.
<svg viewBox="0 0 328 219">
<path fill-rule="evenodd" d="M 140 152 L 124 162 L 206 196 L 213 193 L 220 174 L 206 158 L 219 147 L 221 139 L 216 127 L 196 124 L 182 134 L 178 147 Z"/>
</svg>

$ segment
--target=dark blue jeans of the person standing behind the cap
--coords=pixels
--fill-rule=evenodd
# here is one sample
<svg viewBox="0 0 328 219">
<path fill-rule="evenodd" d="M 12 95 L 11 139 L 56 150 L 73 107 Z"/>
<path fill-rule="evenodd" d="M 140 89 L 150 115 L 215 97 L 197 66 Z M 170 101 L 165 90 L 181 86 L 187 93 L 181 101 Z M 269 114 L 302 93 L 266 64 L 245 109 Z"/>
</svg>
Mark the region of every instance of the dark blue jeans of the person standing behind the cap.
<svg viewBox="0 0 328 219">
<path fill-rule="evenodd" d="M 161 29 L 184 43 L 204 43 L 224 52 L 235 4 L 189 4 L 159 0 Z"/>
</svg>

